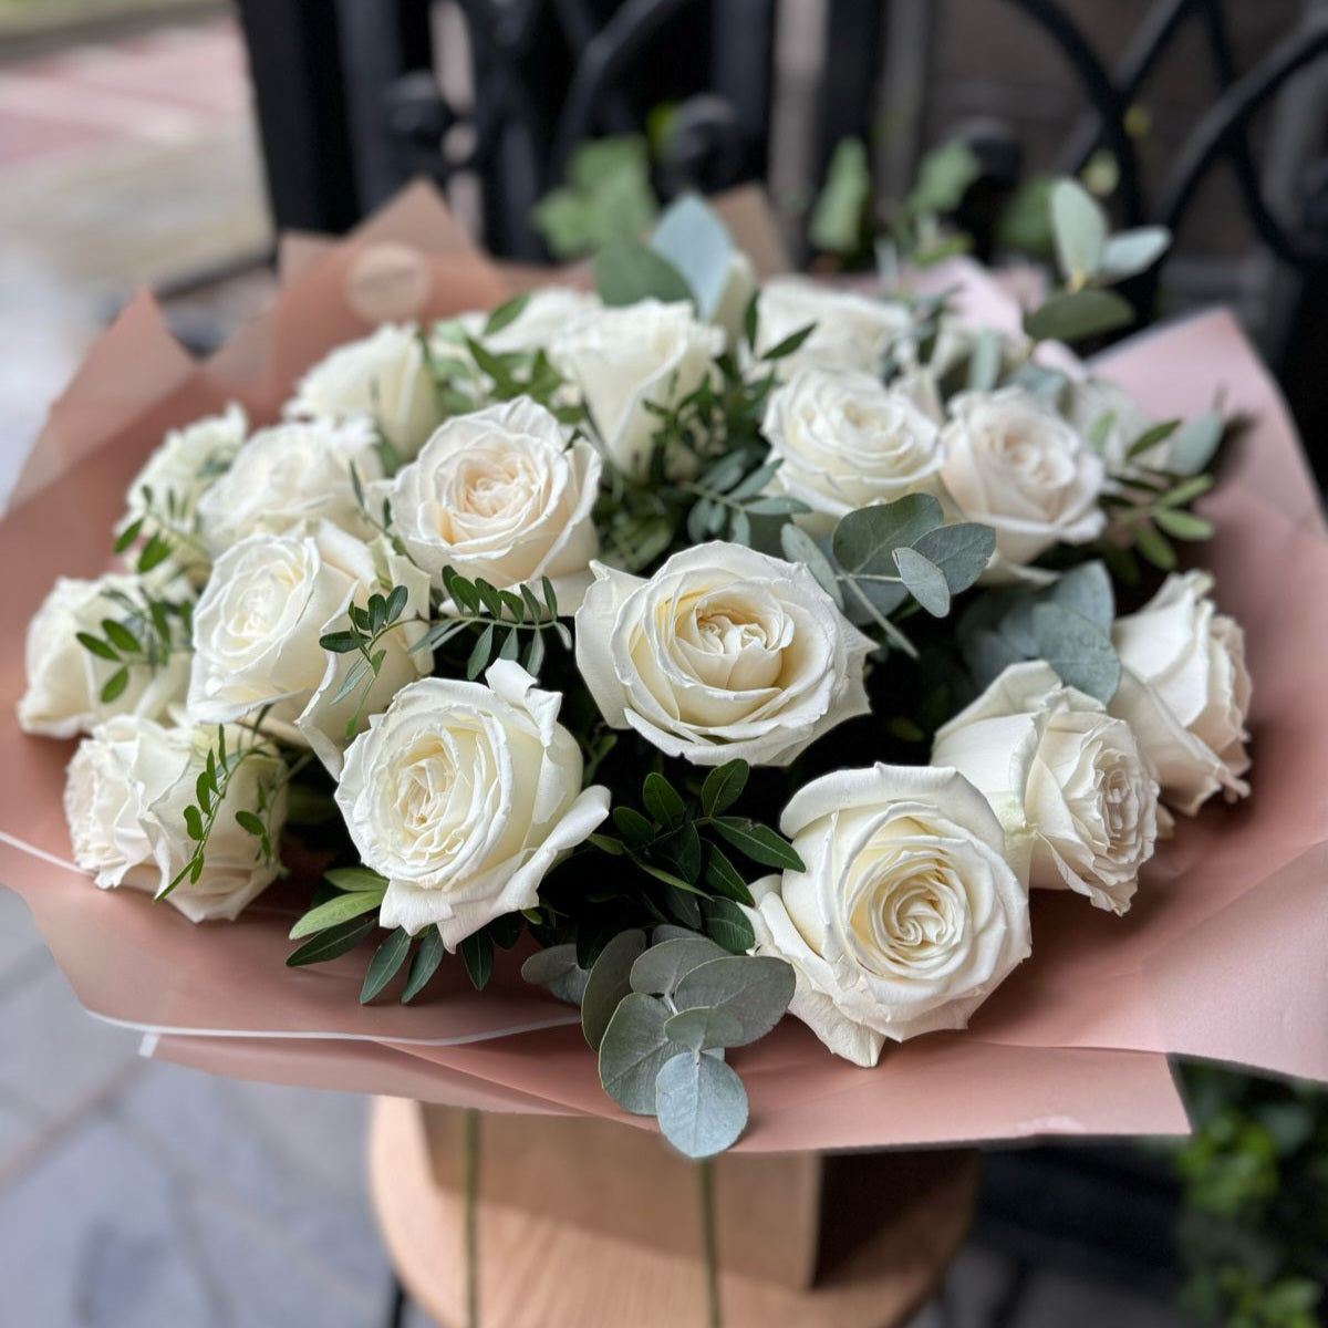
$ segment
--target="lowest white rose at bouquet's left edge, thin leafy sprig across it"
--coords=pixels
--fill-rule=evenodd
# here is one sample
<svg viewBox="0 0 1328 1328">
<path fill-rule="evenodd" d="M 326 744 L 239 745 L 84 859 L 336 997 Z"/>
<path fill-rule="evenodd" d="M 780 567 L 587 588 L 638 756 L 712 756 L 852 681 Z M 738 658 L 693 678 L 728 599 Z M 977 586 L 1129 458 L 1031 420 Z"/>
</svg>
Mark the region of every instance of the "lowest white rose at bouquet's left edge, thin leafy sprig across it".
<svg viewBox="0 0 1328 1328">
<path fill-rule="evenodd" d="M 130 886 L 157 894 L 175 879 L 194 855 L 185 809 L 195 803 L 195 784 L 214 729 L 165 728 L 142 716 L 122 714 L 100 725 L 69 762 L 65 818 L 74 861 L 96 872 L 102 888 Z M 250 744 L 248 734 L 227 733 L 231 752 Z M 220 801 L 203 871 L 187 876 L 166 896 L 191 922 L 235 919 L 279 871 L 263 859 L 259 842 L 235 821 L 236 811 L 259 815 L 274 845 L 286 821 L 286 786 L 280 758 L 250 748 L 235 768 Z"/>
</svg>

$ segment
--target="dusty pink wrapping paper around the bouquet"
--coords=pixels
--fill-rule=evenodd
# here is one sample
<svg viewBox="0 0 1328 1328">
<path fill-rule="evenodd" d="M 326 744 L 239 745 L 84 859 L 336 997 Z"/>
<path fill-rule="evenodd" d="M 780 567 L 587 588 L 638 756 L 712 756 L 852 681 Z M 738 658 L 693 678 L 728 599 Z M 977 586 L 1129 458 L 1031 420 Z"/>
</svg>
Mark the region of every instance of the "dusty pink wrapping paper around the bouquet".
<svg viewBox="0 0 1328 1328">
<path fill-rule="evenodd" d="M 750 194 L 729 201 L 742 235 Z M 780 264 L 770 235 L 762 268 Z M 4 610 L 25 620 L 58 574 L 105 567 L 124 490 L 162 433 L 239 400 L 270 420 L 293 378 L 371 315 L 433 317 L 538 279 L 489 263 L 422 186 L 348 242 L 283 248 L 267 316 L 205 365 L 139 297 L 105 333 L 50 420 L 0 523 Z M 1008 296 L 956 264 L 969 316 L 1007 323 Z M 834 1060 L 786 1020 L 737 1053 L 753 1108 L 741 1146 L 861 1147 L 1145 1134 L 1185 1129 L 1166 1053 L 1328 1078 L 1328 537 L 1276 389 L 1230 315 L 1146 333 L 1106 356 L 1157 417 L 1219 396 L 1251 420 L 1206 499 L 1219 538 L 1199 551 L 1246 625 L 1255 679 L 1254 797 L 1210 806 L 1150 865 L 1117 919 L 1038 892 L 1033 957 L 960 1035 L 887 1050 L 875 1070 Z M 459 965 L 410 1007 L 360 1007 L 364 956 L 291 971 L 299 911 L 270 891 L 234 924 L 195 927 L 70 865 L 60 794 L 70 744 L 19 733 L 21 640 L 0 645 L 0 880 L 33 910 L 84 1005 L 153 1033 L 155 1054 L 238 1077 L 420 1097 L 491 1110 L 619 1118 L 575 1012 L 523 984 L 518 956 L 482 995 Z M 772 809 L 772 815 L 776 809 Z M 622 1117 L 628 1120 L 625 1117 Z M 637 1120 L 635 1123 L 645 1123 Z"/>
</svg>

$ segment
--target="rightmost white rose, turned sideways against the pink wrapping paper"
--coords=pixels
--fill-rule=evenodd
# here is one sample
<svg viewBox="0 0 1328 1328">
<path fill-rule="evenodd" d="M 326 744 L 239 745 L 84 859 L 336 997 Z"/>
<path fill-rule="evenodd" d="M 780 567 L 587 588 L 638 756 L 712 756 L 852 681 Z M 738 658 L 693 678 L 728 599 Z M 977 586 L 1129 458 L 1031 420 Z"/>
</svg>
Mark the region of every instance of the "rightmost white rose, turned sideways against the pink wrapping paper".
<svg viewBox="0 0 1328 1328">
<path fill-rule="evenodd" d="M 1211 590 L 1207 572 L 1173 574 L 1112 628 L 1122 671 L 1110 710 L 1134 729 L 1162 797 L 1187 815 L 1219 789 L 1228 802 L 1250 793 L 1244 633 Z"/>
</svg>

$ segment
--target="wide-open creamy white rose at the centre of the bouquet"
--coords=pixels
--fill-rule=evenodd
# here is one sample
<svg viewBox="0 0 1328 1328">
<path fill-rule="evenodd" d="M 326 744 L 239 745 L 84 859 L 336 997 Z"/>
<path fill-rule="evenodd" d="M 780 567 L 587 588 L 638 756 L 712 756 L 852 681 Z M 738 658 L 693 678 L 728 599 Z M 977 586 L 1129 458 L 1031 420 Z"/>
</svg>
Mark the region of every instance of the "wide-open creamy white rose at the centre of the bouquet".
<svg viewBox="0 0 1328 1328">
<path fill-rule="evenodd" d="M 648 582 L 594 571 L 576 667 L 614 728 L 693 765 L 788 765 L 869 713 L 871 641 L 806 567 L 710 543 L 675 554 Z"/>
</svg>

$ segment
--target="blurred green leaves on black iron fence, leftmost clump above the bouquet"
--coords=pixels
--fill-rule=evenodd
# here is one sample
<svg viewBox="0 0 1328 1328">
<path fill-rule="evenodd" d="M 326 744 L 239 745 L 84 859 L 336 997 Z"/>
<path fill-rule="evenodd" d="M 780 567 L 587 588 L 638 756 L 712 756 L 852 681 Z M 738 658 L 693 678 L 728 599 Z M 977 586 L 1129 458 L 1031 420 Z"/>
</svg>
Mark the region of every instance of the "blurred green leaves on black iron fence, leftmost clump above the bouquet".
<svg viewBox="0 0 1328 1328">
<path fill-rule="evenodd" d="M 579 145 L 567 183 L 535 205 L 533 219 L 554 258 L 568 259 L 643 235 L 655 211 L 645 139 L 632 134 Z"/>
</svg>

